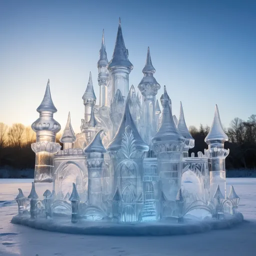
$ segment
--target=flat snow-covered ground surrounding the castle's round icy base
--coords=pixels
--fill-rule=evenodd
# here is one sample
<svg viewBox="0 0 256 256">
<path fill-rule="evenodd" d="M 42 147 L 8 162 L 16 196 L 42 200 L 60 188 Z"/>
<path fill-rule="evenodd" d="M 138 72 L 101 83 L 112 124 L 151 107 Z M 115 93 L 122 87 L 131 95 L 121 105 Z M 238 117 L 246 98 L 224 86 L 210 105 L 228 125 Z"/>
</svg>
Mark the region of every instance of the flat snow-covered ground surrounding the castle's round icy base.
<svg viewBox="0 0 256 256">
<path fill-rule="evenodd" d="M 0 179 L 0 255 L 161 256 L 256 255 L 256 178 L 228 178 L 240 196 L 244 223 L 231 229 L 177 236 L 93 236 L 36 230 L 10 223 L 17 214 L 13 198 L 28 195 L 32 179 Z"/>
</svg>

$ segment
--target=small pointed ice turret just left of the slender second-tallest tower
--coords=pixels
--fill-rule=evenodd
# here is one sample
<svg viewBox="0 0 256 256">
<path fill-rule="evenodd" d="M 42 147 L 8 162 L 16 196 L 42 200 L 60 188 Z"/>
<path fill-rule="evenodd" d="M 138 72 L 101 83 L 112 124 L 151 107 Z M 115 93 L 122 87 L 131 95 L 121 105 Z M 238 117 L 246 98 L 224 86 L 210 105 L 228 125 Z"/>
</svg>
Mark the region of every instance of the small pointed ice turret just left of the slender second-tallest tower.
<svg viewBox="0 0 256 256">
<path fill-rule="evenodd" d="M 85 92 L 82 96 L 84 104 L 84 121 L 87 123 L 90 120 L 90 114 L 96 102 L 96 96 L 93 90 L 91 72 L 89 74 L 89 80 Z"/>
</svg>

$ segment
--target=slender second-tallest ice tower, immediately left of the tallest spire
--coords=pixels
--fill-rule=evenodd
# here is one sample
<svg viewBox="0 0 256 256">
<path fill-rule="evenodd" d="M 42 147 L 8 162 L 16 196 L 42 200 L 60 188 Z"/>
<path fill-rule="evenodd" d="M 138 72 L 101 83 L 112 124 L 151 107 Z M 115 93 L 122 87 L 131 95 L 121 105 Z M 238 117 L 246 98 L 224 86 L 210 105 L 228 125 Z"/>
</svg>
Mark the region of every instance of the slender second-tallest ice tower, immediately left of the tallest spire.
<svg viewBox="0 0 256 256">
<path fill-rule="evenodd" d="M 101 41 L 101 48 L 99 50 L 99 60 L 97 63 L 98 67 L 98 85 L 100 87 L 99 89 L 99 106 L 105 106 L 106 105 L 106 82 L 108 78 L 108 70 L 107 70 L 108 60 L 106 56 L 106 50 L 105 50 L 105 39 L 104 39 L 104 29 L 102 32 L 102 41 Z"/>
</svg>

